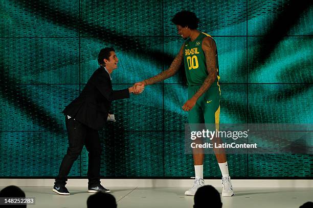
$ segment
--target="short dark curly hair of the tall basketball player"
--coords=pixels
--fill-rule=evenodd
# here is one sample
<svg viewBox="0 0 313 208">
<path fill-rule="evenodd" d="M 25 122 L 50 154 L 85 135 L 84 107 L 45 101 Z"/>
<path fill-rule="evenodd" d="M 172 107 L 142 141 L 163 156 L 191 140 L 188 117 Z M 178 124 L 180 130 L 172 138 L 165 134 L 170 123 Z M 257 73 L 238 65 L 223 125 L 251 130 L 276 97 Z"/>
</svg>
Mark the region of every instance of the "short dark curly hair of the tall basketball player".
<svg viewBox="0 0 313 208">
<path fill-rule="evenodd" d="M 188 26 L 188 28 L 194 30 L 198 28 L 199 19 L 196 17 L 195 13 L 190 11 L 181 11 L 175 14 L 172 18 L 172 22 L 176 25 L 181 25 L 183 28 Z"/>
</svg>

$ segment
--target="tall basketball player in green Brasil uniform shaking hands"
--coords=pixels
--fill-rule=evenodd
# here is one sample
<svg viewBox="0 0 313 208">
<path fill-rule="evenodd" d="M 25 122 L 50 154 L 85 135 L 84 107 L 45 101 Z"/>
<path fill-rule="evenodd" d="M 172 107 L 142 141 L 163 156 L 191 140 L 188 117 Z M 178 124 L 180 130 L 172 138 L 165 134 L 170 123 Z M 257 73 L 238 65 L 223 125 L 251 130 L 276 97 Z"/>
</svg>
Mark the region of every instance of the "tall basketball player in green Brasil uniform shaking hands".
<svg viewBox="0 0 313 208">
<path fill-rule="evenodd" d="M 185 42 L 170 67 L 136 85 L 146 86 L 161 82 L 173 76 L 184 63 L 188 85 L 188 100 L 182 107 L 188 111 L 189 123 L 219 123 L 220 86 L 216 44 L 213 38 L 197 30 L 199 19 L 193 12 L 182 11 L 175 14 L 172 22 Z M 200 138 L 198 143 L 202 143 Z M 218 138 L 214 142 L 220 143 Z M 214 145 L 213 145 L 214 146 Z M 233 196 L 231 178 L 225 150 L 214 149 L 222 174 L 222 196 Z M 195 180 L 185 195 L 193 196 L 199 187 L 204 186 L 203 149 L 193 149 Z"/>
</svg>

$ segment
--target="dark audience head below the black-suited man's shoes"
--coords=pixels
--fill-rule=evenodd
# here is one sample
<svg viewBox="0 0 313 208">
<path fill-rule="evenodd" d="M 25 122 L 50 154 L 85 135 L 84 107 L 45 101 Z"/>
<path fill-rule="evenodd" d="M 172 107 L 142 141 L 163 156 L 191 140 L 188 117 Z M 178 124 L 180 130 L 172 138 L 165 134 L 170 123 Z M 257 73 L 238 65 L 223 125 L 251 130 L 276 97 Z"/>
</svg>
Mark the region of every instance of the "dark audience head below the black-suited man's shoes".
<svg viewBox="0 0 313 208">
<path fill-rule="evenodd" d="M 116 208 L 115 197 L 108 193 L 97 192 L 87 199 L 87 208 L 94 207 Z"/>
</svg>

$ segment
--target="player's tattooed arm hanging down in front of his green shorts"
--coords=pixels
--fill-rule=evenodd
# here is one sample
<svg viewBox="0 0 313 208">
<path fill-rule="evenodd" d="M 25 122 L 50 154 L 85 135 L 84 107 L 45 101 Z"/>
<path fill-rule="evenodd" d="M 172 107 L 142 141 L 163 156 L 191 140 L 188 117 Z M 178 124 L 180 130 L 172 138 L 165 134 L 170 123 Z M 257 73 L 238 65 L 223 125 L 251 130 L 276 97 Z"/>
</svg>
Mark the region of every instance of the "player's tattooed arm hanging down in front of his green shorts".
<svg viewBox="0 0 313 208">
<path fill-rule="evenodd" d="M 184 111 L 190 111 L 192 109 L 197 99 L 210 88 L 210 86 L 214 83 L 217 77 L 216 44 L 214 40 L 211 37 L 205 37 L 202 42 L 202 49 L 206 57 L 206 65 L 209 75 L 207 76 L 199 90 L 193 95 L 193 97 L 187 100 L 187 102 L 184 104 Z"/>
</svg>

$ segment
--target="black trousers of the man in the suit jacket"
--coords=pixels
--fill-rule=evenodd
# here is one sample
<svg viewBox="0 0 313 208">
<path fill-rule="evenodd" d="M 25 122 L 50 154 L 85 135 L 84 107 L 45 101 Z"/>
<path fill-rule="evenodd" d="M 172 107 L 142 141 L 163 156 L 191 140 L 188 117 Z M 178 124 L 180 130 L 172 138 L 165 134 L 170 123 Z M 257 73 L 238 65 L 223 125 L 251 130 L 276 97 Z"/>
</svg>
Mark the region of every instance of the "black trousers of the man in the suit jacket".
<svg viewBox="0 0 313 208">
<path fill-rule="evenodd" d="M 98 131 L 76 119 L 68 119 L 67 116 L 65 116 L 65 125 L 68 131 L 69 147 L 62 160 L 55 183 L 66 184 L 73 163 L 77 160 L 85 145 L 88 151 L 88 186 L 100 184 L 101 146 Z"/>
</svg>

